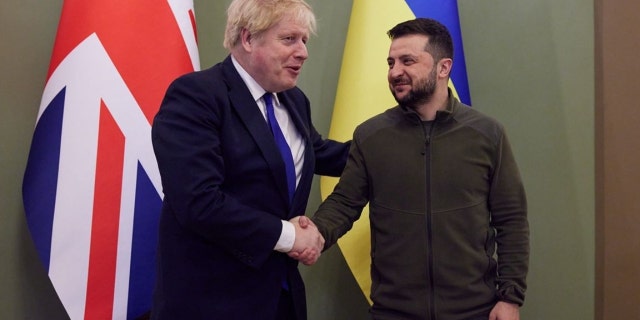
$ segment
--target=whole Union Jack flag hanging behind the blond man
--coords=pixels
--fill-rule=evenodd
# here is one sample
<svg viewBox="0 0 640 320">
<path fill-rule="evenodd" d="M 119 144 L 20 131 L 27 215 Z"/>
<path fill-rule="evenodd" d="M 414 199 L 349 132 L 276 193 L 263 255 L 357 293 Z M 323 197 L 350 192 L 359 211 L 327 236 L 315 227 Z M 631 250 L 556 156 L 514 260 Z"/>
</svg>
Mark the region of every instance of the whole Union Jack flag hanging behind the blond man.
<svg viewBox="0 0 640 320">
<path fill-rule="evenodd" d="M 23 181 L 27 223 L 71 319 L 149 311 L 160 174 L 151 122 L 198 70 L 192 0 L 65 0 Z"/>
</svg>

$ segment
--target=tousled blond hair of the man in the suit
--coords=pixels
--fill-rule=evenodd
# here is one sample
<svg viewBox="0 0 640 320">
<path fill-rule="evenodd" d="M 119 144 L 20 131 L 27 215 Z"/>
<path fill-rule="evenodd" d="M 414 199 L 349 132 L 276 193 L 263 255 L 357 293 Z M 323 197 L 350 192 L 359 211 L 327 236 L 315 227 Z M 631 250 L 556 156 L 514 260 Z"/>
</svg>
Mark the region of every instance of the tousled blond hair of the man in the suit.
<svg viewBox="0 0 640 320">
<path fill-rule="evenodd" d="M 233 0 L 227 9 L 227 27 L 223 45 L 231 50 L 240 41 L 243 29 L 255 37 L 278 23 L 285 15 L 316 32 L 316 18 L 304 0 Z"/>
</svg>

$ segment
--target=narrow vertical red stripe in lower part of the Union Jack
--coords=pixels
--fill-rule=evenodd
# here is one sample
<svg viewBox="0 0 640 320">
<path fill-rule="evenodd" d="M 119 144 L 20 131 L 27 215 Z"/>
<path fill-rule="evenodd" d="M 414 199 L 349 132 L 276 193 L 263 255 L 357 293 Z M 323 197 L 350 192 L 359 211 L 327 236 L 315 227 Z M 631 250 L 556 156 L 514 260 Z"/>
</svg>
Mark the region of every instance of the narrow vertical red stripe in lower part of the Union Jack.
<svg viewBox="0 0 640 320">
<path fill-rule="evenodd" d="M 124 143 L 124 135 L 101 102 L 85 319 L 113 317 Z"/>
</svg>

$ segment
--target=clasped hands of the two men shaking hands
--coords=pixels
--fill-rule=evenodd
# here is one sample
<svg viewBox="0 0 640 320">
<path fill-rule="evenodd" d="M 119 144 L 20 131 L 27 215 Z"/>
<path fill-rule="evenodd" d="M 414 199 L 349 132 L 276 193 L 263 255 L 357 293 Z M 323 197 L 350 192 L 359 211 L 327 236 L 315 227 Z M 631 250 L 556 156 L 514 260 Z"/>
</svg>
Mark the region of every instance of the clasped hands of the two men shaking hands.
<svg viewBox="0 0 640 320">
<path fill-rule="evenodd" d="M 289 222 L 295 227 L 296 239 L 287 254 L 307 266 L 316 263 L 324 248 L 324 238 L 320 231 L 306 216 L 297 216 Z"/>
</svg>

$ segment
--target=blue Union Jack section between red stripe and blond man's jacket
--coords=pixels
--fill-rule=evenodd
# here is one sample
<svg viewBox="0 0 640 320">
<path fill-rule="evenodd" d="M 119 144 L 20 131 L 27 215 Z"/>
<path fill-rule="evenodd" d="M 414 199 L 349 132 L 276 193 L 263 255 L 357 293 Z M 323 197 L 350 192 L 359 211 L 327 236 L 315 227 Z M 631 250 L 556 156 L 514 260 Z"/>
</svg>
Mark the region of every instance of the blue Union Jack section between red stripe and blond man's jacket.
<svg viewBox="0 0 640 320">
<path fill-rule="evenodd" d="M 135 319 L 151 309 L 156 275 L 158 224 L 162 209 L 162 198 L 140 163 L 136 180 L 127 319 Z"/>
</svg>

